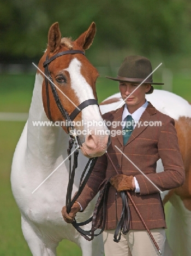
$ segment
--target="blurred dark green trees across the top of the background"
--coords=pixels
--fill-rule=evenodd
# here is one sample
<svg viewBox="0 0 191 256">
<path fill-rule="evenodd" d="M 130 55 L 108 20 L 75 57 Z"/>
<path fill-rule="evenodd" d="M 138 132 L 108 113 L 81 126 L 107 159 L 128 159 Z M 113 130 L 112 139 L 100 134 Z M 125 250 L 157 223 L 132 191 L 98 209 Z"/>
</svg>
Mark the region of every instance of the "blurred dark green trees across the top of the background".
<svg viewBox="0 0 191 256">
<path fill-rule="evenodd" d="M 190 11 L 189 0 L 0 0 L 0 53 L 4 60 L 39 58 L 56 21 L 62 36 L 74 39 L 95 21 L 93 52 L 183 53 L 189 48 Z"/>
</svg>

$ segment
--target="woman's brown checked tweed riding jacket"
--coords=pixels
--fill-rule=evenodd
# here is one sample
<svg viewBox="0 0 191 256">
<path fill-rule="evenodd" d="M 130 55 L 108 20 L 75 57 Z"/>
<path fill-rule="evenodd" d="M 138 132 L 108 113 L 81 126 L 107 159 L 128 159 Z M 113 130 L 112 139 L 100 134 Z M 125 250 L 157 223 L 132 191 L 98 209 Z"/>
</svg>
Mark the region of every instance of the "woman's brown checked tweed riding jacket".
<svg viewBox="0 0 191 256">
<path fill-rule="evenodd" d="M 121 121 L 124 107 L 105 113 L 103 119 L 109 121 Z M 169 190 L 181 187 L 184 183 L 185 173 L 182 156 L 178 147 L 178 139 L 175 130 L 174 119 L 160 113 L 149 102 L 140 120 L 140 127 L 136 125 L 127 144 L 123 145 L 123 136 L 116 134 L 111 136 L 111 144 L 108 154 L 114 162 L 120 174 L 136 177 L 140 193 L 130 191 L 132 198 L 138 207 L 149 229 L 166 228 L 163 203 L 160 190 Z M 162 125 L 154 126 L 153 122 L 161 121 Z M 145 123 L 144 123 L 145 122 Z M 151 123 L 149 123 L 151 122 Z M 147 125 L 147 124 L 150 125 Z M 121 124 L 110 130 L 122 130 Z M 148 179 L 115 147 L 117 146 L 128 158 L 150 179 Z M 156 173 L 157 160 L 162 159 L 164 172 Z M 104 179 L 115 176 L 116 172 L 106 155 L 100 156 L 92 171 L 91 176 L 77 201 L 83 210 L 89 201 L 98 193 L 98 188 Z M 129 203 L 130 229 L 145 229 L 135 212 L 133 205 Z M 108 193 L 106 226 L 105 229 L 115 229 L 122 211 L 120 193 L 114 187 L 110 187 Z"/>
</svg>

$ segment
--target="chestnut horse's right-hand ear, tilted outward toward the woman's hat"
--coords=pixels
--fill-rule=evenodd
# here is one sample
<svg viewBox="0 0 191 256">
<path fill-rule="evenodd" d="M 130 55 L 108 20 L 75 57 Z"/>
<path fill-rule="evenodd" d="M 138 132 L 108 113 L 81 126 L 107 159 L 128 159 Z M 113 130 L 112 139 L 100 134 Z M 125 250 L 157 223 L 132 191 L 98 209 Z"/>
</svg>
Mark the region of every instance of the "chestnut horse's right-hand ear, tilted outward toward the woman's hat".
<svg viewBox="0 0 191 256">
<path fill-rule="evenodd" d="M 96 24 L 92 22 L 88 30 L 83 34 L 81 34 L 79 38 L 77 38 L 76 43 L 80 47 L 82 47 L 83 50 L 86 50 L 89 48 L 89 46 L 91 46 L 95 34 L 96 34 Z"/>
</svg>

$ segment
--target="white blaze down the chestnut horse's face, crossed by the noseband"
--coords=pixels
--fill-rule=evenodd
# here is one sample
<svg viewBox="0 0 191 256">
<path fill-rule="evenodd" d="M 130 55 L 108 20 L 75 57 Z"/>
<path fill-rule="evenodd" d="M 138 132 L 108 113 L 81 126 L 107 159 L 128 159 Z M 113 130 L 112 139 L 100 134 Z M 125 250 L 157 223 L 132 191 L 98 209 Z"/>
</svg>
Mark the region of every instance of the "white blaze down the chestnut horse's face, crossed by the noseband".
<svg viewBox="0 0 191 256">
<path fill-rule="evenodd" d="M 93 95 L 93 90 L 91 86 L 87 83 L 86 79 L 81 74 L 81 62 L 74 58 L 66 71 L 70 74 L 71 88 L 74 90 L 75 95 L 79 98 L 80 103 L 86 101 L 90 98 L 95 98 Z M 84 129 L 87 130 L 87 122 L 89 120 L 94 120 L 93 126 L 100 121 L 103 124 L 103 119 L 99 112 L 99 107 L 97 105 L 89 105 L 82 110 L 82 120 L 84 122 Z M 99 129 L 108 130 L 106 126 L 99 125 Z"/>
</svg>

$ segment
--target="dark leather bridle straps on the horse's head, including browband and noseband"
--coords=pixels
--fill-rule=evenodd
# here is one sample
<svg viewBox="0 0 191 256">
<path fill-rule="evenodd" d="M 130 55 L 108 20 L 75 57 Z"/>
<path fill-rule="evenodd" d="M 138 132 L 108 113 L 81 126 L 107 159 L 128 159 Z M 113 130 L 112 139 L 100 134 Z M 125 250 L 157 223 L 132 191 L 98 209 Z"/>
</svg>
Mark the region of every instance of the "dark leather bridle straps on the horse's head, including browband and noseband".
<svg viewBox="0 0 191 256">
<path fill-rule="evenodd" d="M 55 60 L 57 57 L 67 55 L 67 54 L 83 54 L 83 55 L 85 55 L 85 53 L 80 50 L 62 51 L 61 53 L 58 53 L 58 54 L 52 56 L 50 59 L 48 56 L 46 56 L 46 61 L 43 63 L 43 67 L 45 68 L 47 111 L 48 111 L 49 119 L 52 121 L 51 112 L 50 112 L 50 100 L 49 100 L 49 84 L 50 84 L 50 88 L 52 90 L 53 97 L 55 98 L 57 107 L 58 107 L 59 111 L 61 112 L 62 117 L 66 121 L 67 131 L 68 131 L 68 133 L 70 132 L 70 134 L 73 134 L 73 136 L 76 139 L 76 143 L 79 144 L 79 138 L 77 136 L 75 136 L 75 129 L 74 129 L 72 121 L 81 112 L 81 110 L 83 108 L 86 108 L 89 105 L 98 105 L 98 102 L 94 98 L 83 101 L 82 103 L 79 104 L 79 106 L 77 106 L 77 108 L 74 109 L 74 111 L 70 115 L 68 114 L 67 110 L 65 110 L 64 107 L 62 106 L 61 100 L 59 99 L 55 84 L 53 83 L 53 79 L 52 79 L 50 71 L 49 71 L 49 64 L 50 64 L 50 62 Z M 49 79 L 47 79 L 47 78 L 49 78 Z M 70 131 L 69 131 L 69 128 L 70 128 Z"/>
</svg>

